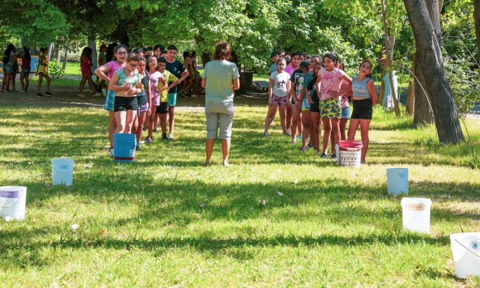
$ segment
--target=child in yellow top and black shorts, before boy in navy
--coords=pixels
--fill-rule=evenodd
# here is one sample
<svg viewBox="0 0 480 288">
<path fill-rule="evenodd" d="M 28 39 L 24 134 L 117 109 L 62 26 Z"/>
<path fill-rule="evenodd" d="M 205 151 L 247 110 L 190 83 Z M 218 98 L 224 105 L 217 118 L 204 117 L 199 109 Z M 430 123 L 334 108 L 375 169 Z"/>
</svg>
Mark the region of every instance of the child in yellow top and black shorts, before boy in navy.
<svg viewBox="0 0 480 288">
<path fill-rule="evenodd" d="M 156 108 L 156 114 L 160 116 L 160 128 L 162 129 L 162 140 L 169 140 L 167 137 L 167 114 L 168 114 L 168 91 L 178 84 L 178 77 L 165 70 L 167 67 L 167 59 L 158 58 L 158 72 L 161 77 L 158 77 L 158 94 L 160 97 L 160 104 Z M 168 85 L 171 83 L 170 85 Z"/>
</svg>

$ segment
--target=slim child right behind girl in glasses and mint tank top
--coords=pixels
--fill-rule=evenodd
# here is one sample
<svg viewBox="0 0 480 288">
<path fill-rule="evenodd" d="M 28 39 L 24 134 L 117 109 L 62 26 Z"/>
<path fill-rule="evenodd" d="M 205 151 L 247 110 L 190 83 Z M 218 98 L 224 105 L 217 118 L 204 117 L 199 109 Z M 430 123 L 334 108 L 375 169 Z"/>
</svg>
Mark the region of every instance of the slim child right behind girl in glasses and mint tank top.
<svg viewBox="0 0 480 288">
<path fill-rule="evenodd" d="M 152 105 L 152 88 L 150 86 L 150 78 L 145 72 L 145 58 L 140 58 L 139 67 L 137 67 L 140 74 L 140 82 L 142 86 L 142 92 L 136 95 L 136 100 L 139 103 L 139 110 L 136 125 L 136 149 L 140 150 L 140 138 L 143 132 L 143 124 L 145 119 L 150 115 L 150 106 Z"/>
</svg>

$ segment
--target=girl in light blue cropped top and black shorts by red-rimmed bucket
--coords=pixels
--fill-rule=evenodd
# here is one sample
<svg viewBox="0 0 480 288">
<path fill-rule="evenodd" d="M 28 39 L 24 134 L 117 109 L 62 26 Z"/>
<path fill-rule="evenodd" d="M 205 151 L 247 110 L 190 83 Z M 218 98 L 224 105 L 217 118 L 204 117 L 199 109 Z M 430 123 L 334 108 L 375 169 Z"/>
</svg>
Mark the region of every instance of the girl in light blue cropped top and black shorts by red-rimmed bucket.
<svg viewBox="0 0 480 288">
<path fill-rule="evenodd" d="M 360 126 L 361 142 L 361 160 L 365 164 L 365 156 L 368 152 L 368 130 L 370 121 L 372 121 L 373 106 L 376 103 L 376 88 L 372 80 L 372 64 L 369 61 L 363 61 L 359 67 L 359 75 L 352 80 L 352 116 L 350 117 L 350 126 L 348 127 L 348 140 L 355 140 L 355 132 Z"/>
</svg>

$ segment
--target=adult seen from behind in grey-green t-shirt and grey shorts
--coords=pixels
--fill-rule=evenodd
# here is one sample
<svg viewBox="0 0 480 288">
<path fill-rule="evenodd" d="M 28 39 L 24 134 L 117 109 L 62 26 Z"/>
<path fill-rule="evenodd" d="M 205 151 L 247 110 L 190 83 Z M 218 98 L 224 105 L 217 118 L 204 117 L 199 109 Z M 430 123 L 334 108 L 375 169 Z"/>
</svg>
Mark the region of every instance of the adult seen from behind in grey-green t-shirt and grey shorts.
<svg viewBox="0 0 480 288">
<path fill-rule="evenodd" d="M 240 88 L 240 74 L 237 65 L 229 62 L 230 45 L 220 42 L 215 45 L 212 61 L 205 65 L 202 87 L 206 88 L 206 159 L 204 165 L 211 165 L 215 139 L 221 139 L 223 165 L 229 166 L 230 137 L 233 123 L 233 91 Z"/>
</svg>

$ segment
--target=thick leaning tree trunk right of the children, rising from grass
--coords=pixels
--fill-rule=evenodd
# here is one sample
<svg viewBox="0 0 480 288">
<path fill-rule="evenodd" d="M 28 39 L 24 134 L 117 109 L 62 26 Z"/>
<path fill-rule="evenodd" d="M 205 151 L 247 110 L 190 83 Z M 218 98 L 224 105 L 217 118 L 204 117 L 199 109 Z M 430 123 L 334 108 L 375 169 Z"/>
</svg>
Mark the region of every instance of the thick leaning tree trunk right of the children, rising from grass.
<svg viewBox="0 0 480 288">
<path fill-rule="evenodd" d="M 422 67 L 420 73 L 425 80 L 424 88 L 429 95 L 438 139 L 442 143 L 460 143 L 465 141 L 464 134 L 446 79 L 440 40 L 426 1 L 433 0 L 403 0 L 415 37 L 417 57 L 422 60 L 418 61 Z M 438 9 L 438 1 L 436 3 Z"/>
</svg>

